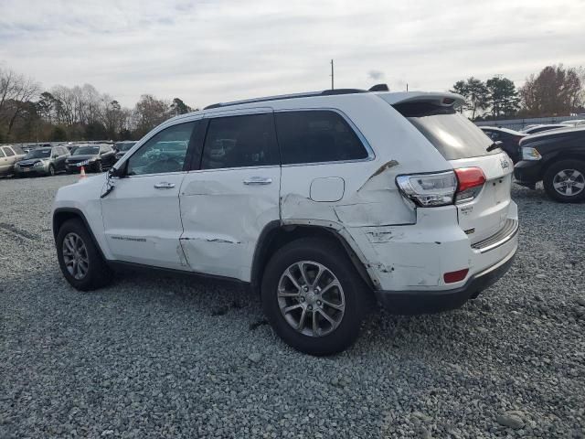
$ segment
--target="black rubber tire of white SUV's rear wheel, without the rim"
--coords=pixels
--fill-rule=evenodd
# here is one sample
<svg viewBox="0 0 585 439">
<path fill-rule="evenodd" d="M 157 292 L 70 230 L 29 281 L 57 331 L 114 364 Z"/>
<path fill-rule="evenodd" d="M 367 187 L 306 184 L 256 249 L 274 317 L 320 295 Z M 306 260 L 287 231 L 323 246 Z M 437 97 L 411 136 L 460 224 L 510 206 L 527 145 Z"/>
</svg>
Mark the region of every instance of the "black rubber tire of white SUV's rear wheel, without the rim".
<svg viewBox="0 0 585 439">
<path fill-rule="evenodd" d="M 335 275 L 345 295 L 345 313 L 339 326 L 322 337 L 298 332 L 281 312 L 277 291 L 282 274 L 295 262 L 312 261 L 323 264 Z M 367 309 L 367 285 L 346 256 L 343 247 L 333 239 L 303 238 L 275 252 L 268 262 L 261 284 L 264 314 L 274 331 L 293 348 L 314 356 L 332 355 L 351 346 Z"/>
</svg>

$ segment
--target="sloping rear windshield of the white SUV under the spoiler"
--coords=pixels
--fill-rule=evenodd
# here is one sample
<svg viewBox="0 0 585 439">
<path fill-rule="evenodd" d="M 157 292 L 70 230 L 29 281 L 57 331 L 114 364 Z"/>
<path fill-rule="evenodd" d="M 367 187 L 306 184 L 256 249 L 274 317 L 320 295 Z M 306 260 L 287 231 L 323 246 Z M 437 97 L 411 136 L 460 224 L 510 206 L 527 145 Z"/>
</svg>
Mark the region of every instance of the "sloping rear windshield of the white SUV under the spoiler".
<svg viewBox="0 0 585 439">
<path fill-rule="evenodd" d="M 427 102 L 406 102 L 394 108 L 418 128 L 447 160 L 501 153 L 500 148 L 487 151 L 494 142 L 463 114 L 452 107 Z"/>
</svg>

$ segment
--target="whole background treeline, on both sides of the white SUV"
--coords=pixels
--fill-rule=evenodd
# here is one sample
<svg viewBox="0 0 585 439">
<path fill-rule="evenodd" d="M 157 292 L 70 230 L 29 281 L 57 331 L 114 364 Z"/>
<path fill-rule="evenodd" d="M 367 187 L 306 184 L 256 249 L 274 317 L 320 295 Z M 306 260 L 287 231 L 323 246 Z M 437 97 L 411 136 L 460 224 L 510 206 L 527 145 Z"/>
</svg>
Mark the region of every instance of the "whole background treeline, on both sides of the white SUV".
<svg viewBox="0 0 585 439">
<path fill-rule="evenodd" d="M 548 66 L 516 89 L 501 76 L 458 80 L 452 91 L 465 98 L 461 107 L 473 120 L 547 117 L 585 112 L 585 70 Z M 44 91 L 23 74 L 0 69 L 0 143 L 67 140 L 140 139 L 169 117 L 192 109 L 144 94 L 132 109 L 92 85 L 58 85 Z"/>
</svg>

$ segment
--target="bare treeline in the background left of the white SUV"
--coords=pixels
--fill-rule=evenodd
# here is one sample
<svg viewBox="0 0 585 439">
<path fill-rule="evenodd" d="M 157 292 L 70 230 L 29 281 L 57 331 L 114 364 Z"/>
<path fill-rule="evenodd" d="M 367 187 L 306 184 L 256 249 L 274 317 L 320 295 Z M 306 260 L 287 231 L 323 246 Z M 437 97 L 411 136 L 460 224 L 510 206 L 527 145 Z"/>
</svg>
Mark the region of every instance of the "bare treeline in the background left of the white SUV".
<svg viewBox="0 0 585 439">
<path fill-rule="evenodd" d="M 150 94 L 124 108 L 90 84 L 43 91 L 37 81 L 0 69 L 0 144 L 137 140 L 166 119 L 195 110 L 179 98 L 165 101 Z"/>
</svg>

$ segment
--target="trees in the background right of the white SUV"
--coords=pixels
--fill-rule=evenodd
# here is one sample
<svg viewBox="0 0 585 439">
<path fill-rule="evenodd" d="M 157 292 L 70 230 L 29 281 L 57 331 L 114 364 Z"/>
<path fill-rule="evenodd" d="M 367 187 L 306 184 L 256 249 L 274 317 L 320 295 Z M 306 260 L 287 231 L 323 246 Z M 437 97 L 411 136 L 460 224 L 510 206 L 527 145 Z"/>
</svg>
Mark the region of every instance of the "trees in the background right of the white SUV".
<svg viewBox="0 0 585 439">
<path fill-rule="evenodd" d="M 585 69 L 547 66 L 519 89 L 499 75 L 485 81 L 472 76 L 455 82 L 451 91 L 463 95 L 460 111 L 473 121 L 568 116 L 585 112 Z"/>
</svg>

